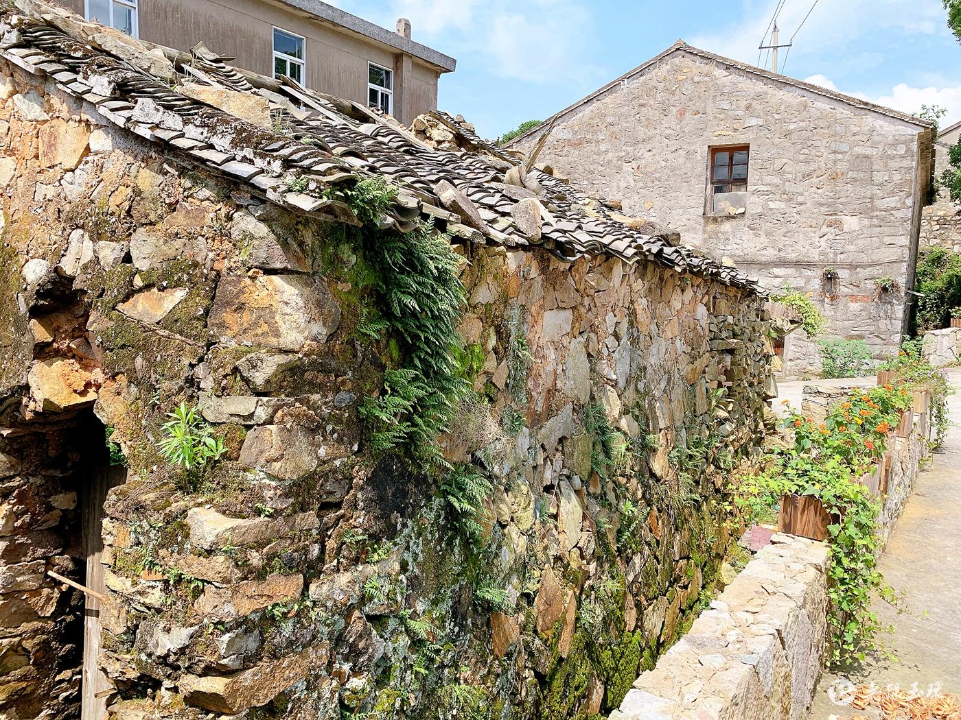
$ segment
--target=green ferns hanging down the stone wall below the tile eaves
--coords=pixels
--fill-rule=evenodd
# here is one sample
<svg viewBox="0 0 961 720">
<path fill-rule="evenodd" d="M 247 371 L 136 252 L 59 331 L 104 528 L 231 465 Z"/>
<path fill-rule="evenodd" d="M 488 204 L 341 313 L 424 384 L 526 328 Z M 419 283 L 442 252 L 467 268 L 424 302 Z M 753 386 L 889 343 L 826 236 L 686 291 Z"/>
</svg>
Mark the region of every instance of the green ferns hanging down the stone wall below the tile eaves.
<svg viewBox="0 0 961 720">
<path fill-rule="evenodd" d="M 404 448 L 415 459 L 445 466 L 434 440 L 470 388 L 454 354 L 464 301 L 457 254 L 431 224 L 377 234 L 368 245 L 382 322 L 399 339 L 403 367 L 384 373 L 382 394 L 364 400 L 361 418 L 375 449 Z"/>
</svg>

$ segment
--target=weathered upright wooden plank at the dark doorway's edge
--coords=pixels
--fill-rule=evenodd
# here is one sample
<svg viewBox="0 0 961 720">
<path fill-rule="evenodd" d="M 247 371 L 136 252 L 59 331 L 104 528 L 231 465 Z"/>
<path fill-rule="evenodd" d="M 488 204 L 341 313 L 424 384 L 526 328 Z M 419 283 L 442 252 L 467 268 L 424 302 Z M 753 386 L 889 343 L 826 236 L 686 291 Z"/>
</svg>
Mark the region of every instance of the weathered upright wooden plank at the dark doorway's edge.
<svg viewBox="0 0 961 720">
<path fill-rule="evenodd" d="M 104 585 L 102 537 L 104 503 L 107 492 L 127 480 L 127 468 L 96 468 L 84 492 L 83 512 L 84 554 L 86 556 L 86 611 L 84 621 L 84 674 L 81 685 L 81 720 L 104 720 L 107 717 L 107 696 L 111 684 L 97 665 L 100 655 L 100 607 L 107 592 Z"/>
</svg>

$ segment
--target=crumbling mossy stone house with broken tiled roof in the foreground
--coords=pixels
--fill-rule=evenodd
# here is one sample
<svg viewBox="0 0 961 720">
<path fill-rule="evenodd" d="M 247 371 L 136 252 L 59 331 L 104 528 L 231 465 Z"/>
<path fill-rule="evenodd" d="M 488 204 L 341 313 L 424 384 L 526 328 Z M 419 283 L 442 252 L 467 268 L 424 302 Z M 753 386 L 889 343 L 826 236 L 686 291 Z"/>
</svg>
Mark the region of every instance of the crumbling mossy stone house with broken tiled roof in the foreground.
<svg viewBox="0 0 961 720">
<path fill-rule="evenodd" d="M 757 285 L 450 116 L 0 26 L 0 714 L 616 708 L 718 581 Z"/>
</svg>

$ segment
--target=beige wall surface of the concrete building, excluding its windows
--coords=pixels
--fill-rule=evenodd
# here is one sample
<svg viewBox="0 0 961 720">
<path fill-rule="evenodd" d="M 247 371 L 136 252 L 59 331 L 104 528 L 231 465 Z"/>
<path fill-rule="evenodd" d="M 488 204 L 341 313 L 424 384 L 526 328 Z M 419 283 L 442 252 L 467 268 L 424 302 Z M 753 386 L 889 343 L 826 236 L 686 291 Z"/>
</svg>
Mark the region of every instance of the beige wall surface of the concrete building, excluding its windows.
<svg viewBox="0 0 961 720">
<path fill-rule="evenodd" d="M 83 14 L 84 0 L 61 0 Z M 412 72 L 397 72 L 404 59 L 361 36 L 341 33 L 264 0 L 140 0 L 139 34 L 144 40 L 189 50 L 203 42 L 210 50 L 236 58 L 234 64 L 273 75 L 273 28 L 306 42 L 308 87 L 337 97 L 367 102 L 367 63 L 394 68 L 394 114 L 404 123 L 437 108 L 439 74 L 410 58 Z M 402 75 L 406 79 L 402 84 Z"/>
</svg>

